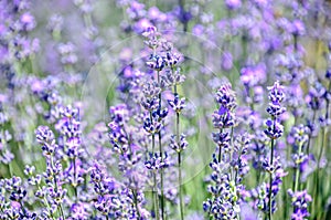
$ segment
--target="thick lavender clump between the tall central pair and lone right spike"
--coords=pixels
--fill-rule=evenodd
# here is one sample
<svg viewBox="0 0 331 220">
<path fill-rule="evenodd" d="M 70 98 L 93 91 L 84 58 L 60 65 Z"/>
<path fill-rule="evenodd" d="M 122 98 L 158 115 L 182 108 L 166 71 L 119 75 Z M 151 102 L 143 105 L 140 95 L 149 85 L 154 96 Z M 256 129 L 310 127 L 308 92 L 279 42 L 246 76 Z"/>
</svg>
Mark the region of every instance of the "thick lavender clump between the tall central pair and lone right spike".
<svg viewBox="0 0 331 220">
<path fill-rule="evenodd" d="M 218 157 L 213 155 L 213 161 L 210 167 L 213 172 L 210 177 L 212 185 L 209 186 L 209 192 L 213 199 L 207 199 L 203 203 L 203 209 L 214 219 L 239 219 L 241 213 L 241 191 L 243 178 L 247 175 L 249 167 L 246 157 L 250 137 L 248 134 L 239 135 L 233 139 L 234 109 L 237 106 L 236 96 L 231 90 L 229 84 L 224 84 L 216 94 L 216 102 L 220 104 L 218 113 L 213 114 L 214 127 L 220 128 L 218 133 L 213 133 L 213 140 L 218 148 Z M 227 126 L 216 126 L 215 117 L 229 115 L 233 118 L 231 133 L 224 130 Z M 220 125 L 217 123 L 217 125 Z"/>
</svg>

